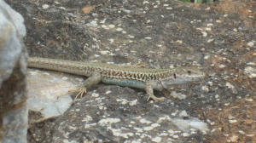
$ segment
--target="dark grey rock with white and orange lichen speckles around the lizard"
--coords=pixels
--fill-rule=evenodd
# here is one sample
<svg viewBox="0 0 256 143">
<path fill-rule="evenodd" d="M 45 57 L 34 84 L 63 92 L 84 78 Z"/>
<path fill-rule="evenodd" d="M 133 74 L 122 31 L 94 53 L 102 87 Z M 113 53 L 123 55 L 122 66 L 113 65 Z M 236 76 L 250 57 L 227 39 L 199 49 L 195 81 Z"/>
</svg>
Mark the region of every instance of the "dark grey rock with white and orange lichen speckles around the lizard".
<svg viewBox="0 0 256 143">
<path fill-rule="evenodd" d="M 30 142 L 256 141 L 255 3 L 7 2 L 25 17 L 30 56 L 197 66 L 208 75 L 199 83 L 155 91 L 166 97 L 157 103 L 147 102 L 140 89 L 92 86 L 61 117 L 31 124 Z M 37 117 L 40 112 L 30 112 L 31 119 Z"/>
</svg>

